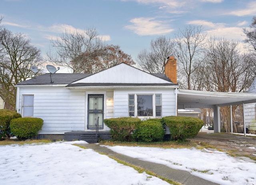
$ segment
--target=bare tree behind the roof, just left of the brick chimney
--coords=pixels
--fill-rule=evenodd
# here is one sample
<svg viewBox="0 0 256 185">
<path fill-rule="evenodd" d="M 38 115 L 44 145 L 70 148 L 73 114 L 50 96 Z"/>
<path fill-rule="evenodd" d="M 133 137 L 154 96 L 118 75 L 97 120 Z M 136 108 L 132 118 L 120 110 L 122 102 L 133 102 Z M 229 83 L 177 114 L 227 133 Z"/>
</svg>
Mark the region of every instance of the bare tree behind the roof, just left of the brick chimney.
<svg viewBox="0 0 256 185">
<path fill-rule="evenodd" d="M 165 36 L 151 40 L 150 50 L 142 50 L 137 56 L 140 68 L 149 73 L 164 73 L 168 56 L 174 55 L 174 42 Z"/>
</svg>

